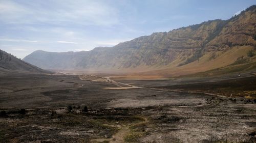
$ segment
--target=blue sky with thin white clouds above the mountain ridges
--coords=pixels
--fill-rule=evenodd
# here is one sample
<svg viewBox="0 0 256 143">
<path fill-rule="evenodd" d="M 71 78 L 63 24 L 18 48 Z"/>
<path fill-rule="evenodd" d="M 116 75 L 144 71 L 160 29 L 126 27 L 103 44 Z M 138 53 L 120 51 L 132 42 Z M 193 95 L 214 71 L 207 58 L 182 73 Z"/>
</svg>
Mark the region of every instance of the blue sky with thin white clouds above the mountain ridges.
<svg viewBox="0 0 256 143">
<path fill-rule="evenodd" d="M 92 50 L 214 19 L 256 0 L 0 0 L 0 49 L 23 59 L 35 50 Z"/>
</svg>

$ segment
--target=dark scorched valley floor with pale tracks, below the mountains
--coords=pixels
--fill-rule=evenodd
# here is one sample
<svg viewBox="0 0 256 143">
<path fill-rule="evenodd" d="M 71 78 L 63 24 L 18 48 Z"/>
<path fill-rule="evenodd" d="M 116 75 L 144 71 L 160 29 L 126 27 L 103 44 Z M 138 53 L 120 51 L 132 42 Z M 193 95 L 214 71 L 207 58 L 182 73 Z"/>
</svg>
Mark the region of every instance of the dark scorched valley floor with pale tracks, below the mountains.
<svg viewBox="0 0 256 143">
<path fill-rule="evenodd" d="M 95 75 L 5 75 L 0 141 L 255 142 L 254 83 L 254 73 L 115 81 Z"/>
</svg>

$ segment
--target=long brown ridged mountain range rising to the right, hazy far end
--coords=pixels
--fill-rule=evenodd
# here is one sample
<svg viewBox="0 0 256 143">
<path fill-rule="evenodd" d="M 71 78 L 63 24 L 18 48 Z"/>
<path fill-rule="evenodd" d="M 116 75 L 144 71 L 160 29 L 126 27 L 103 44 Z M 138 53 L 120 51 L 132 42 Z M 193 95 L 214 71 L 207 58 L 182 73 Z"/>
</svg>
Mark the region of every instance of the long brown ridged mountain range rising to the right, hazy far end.
<svg viewBox="0 0 256 143">
<path fill-rule="evenodd" d="M 256 6 L 253 5 L 228 20 L 210 20 L 91 51 L 37 50 L 23 60 L 43 69 L 150 72 L 169 76 L 252 63 L 256 61 L 255 49 Z"/>
</svg>

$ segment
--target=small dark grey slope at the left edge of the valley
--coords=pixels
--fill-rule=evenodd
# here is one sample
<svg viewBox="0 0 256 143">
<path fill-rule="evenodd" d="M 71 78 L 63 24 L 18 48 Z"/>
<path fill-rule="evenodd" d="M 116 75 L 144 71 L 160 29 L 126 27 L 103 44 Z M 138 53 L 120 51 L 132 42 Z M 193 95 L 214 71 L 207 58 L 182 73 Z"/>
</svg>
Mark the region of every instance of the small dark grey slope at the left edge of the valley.
<svg viewBox="0 0 256 143">
<path fill-rule="evenodd" d="M 20 73 L 50 73 L 27 62 L 17 59 L 10 53 L 0 50 L 0 73 L 20 72 Z"/>
</svg>

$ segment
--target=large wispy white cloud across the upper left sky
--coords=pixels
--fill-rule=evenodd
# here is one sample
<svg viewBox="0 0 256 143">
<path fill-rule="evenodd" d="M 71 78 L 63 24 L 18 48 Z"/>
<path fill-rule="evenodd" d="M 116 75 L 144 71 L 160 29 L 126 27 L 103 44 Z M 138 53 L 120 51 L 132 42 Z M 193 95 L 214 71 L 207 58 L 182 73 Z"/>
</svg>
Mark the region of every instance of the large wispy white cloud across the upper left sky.
<svg viewBox="0 0 256 143">
<path fill-rule="evenodd" d="M 103 1 L 0 1 L 0 21 L 5 23 L 113 25 L 119 23 L 117 13 Z"/>
</svg>

